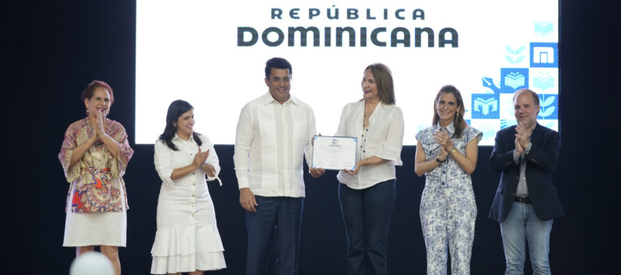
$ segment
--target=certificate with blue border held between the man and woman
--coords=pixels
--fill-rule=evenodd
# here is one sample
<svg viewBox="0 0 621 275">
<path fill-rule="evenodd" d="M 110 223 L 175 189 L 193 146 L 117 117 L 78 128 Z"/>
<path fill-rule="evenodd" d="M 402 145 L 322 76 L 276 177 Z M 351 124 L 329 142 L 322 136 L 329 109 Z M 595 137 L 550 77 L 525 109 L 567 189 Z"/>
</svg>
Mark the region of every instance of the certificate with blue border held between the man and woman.
<svg viewBox="0 0 621 275">
<path fill-rule="evenodd" d="M 358 139 L 351 136 L 315 136 L 313 167 L 327 170 L 354 170 Z"/>
</svg>

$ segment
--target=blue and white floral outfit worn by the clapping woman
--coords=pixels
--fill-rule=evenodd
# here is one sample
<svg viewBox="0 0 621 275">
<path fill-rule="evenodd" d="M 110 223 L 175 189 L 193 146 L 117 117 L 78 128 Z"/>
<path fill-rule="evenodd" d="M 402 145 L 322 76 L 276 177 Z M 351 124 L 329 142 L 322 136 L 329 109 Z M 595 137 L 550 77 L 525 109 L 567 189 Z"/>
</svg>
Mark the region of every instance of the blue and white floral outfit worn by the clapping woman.
<svg viewBox="0 0 621 275">
<path fill-rule="evenodd" d="M 425 152 L 425 161 L 440 155 L 440 144 L 433 139 L 433 134 L 440 129 L 442 127 L 436 124 L 416 134 Z M 453 123 L 444 129 L 453 136 Z M 468 126 L 461 137 L 451 137 L 451 141 L 456 150 L 465 155 L 467 143 L 473 139 L 479 143 L 481 136 L 479 130 Z M 425 173 L 425 177 L 419 214 L 427 249 L 427 274 L 447 274 L 447 243 L 451 251 L 451 274 L 470 274 L 477 219 L 472 179 L 453 157 Z"/>
</svg>

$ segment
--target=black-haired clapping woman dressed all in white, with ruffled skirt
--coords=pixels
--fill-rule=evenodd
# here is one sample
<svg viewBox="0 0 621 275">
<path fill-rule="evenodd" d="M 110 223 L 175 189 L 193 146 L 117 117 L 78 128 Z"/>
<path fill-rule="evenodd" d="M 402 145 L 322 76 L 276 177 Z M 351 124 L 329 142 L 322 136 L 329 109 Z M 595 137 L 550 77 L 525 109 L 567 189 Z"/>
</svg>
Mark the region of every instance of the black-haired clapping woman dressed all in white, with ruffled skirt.
<svg viewBox="0 0 621 275">
<path fill-rule="evenodd" d="M 155 143 L 155 167 L 162 179 L 152 274 L 203 274 L 226 267 L 207 180 L 218 180 L 214 145 L 194 132 L 194 109 L 184 100 L 168 107 L 166 127 Z M 220 182 L 220 185 L 222 183 Z"/>
</svg>

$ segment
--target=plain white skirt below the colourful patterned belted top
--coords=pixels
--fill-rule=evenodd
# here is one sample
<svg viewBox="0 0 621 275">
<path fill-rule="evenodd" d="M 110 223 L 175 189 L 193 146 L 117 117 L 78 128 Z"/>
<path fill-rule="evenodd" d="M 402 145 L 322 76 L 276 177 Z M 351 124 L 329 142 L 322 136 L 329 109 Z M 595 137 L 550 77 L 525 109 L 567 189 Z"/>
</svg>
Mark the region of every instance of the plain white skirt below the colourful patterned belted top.
<svg viewBox="0 0 621 275">
<path fill-rule="evenodd" d="M 123 188 L 121 198 L 125 196 Z M 74 213 L 70 203 L 73 192 L 67 203 L 65 219 L 65 237 L 63 246 L 126 246 L 127 213 L 125 203 L 121 212 Z"/>
</svg>

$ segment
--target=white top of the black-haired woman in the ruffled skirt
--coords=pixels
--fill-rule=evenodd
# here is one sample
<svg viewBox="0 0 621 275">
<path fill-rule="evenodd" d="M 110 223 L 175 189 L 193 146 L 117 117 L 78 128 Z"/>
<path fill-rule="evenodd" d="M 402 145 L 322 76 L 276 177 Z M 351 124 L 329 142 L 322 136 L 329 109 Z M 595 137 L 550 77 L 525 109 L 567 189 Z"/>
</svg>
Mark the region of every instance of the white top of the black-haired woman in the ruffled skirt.
<svg viewBox="0 0 621 275">
<path fill-rule="evenodd" d="M 203 134 L 198 134 L 199 139 L 202 141 L 202 145 L 200 146 L 201 152 L 205 152 L 209 150 L 209 156 L 207 157 L 207 163 L 214 166 L 216 171 L 214 171 L 215 177 L 209 177 L 208 180 L 218 179 L 218 174 L 220 173 L 220 164 L 218 164 L 218 154 L 216 154 L 216 150 L 214 149 L 214 144 L 209 141 L 209 138 Z M 193 136 L 190 135 L 190 139 L 184 141 L 179 138 L 177 134 L 174 134 L 172 138 L 172 143 L 177 146 L 178 151 L 172 150 L 166 145 L 166 142 L 158 139 L 155 143 L 155 155 L 154 162 L 156 166 L 156 171 L 158 171 L 158 175 L 162 180 L 163 184 L 167 184 L 168 187 L 184 186 L 184 187 L 194 187 L 195 184 L 202 184 L 205 182 L 205 173 L 201 168 L 197 168 L 192 173 L 188 175 L 184 175 L 177 180 L 172 180 L 170 175 L 172 175 L 172 171 L 176 168 L 181 168 L 184 166 L 188 166 L 192 164 L 194 161 L 194 157 L 198 152 L 198 144 L 194 141 Z M 220 182 L 222 185 L 222 182 Z"/>
</svg>

